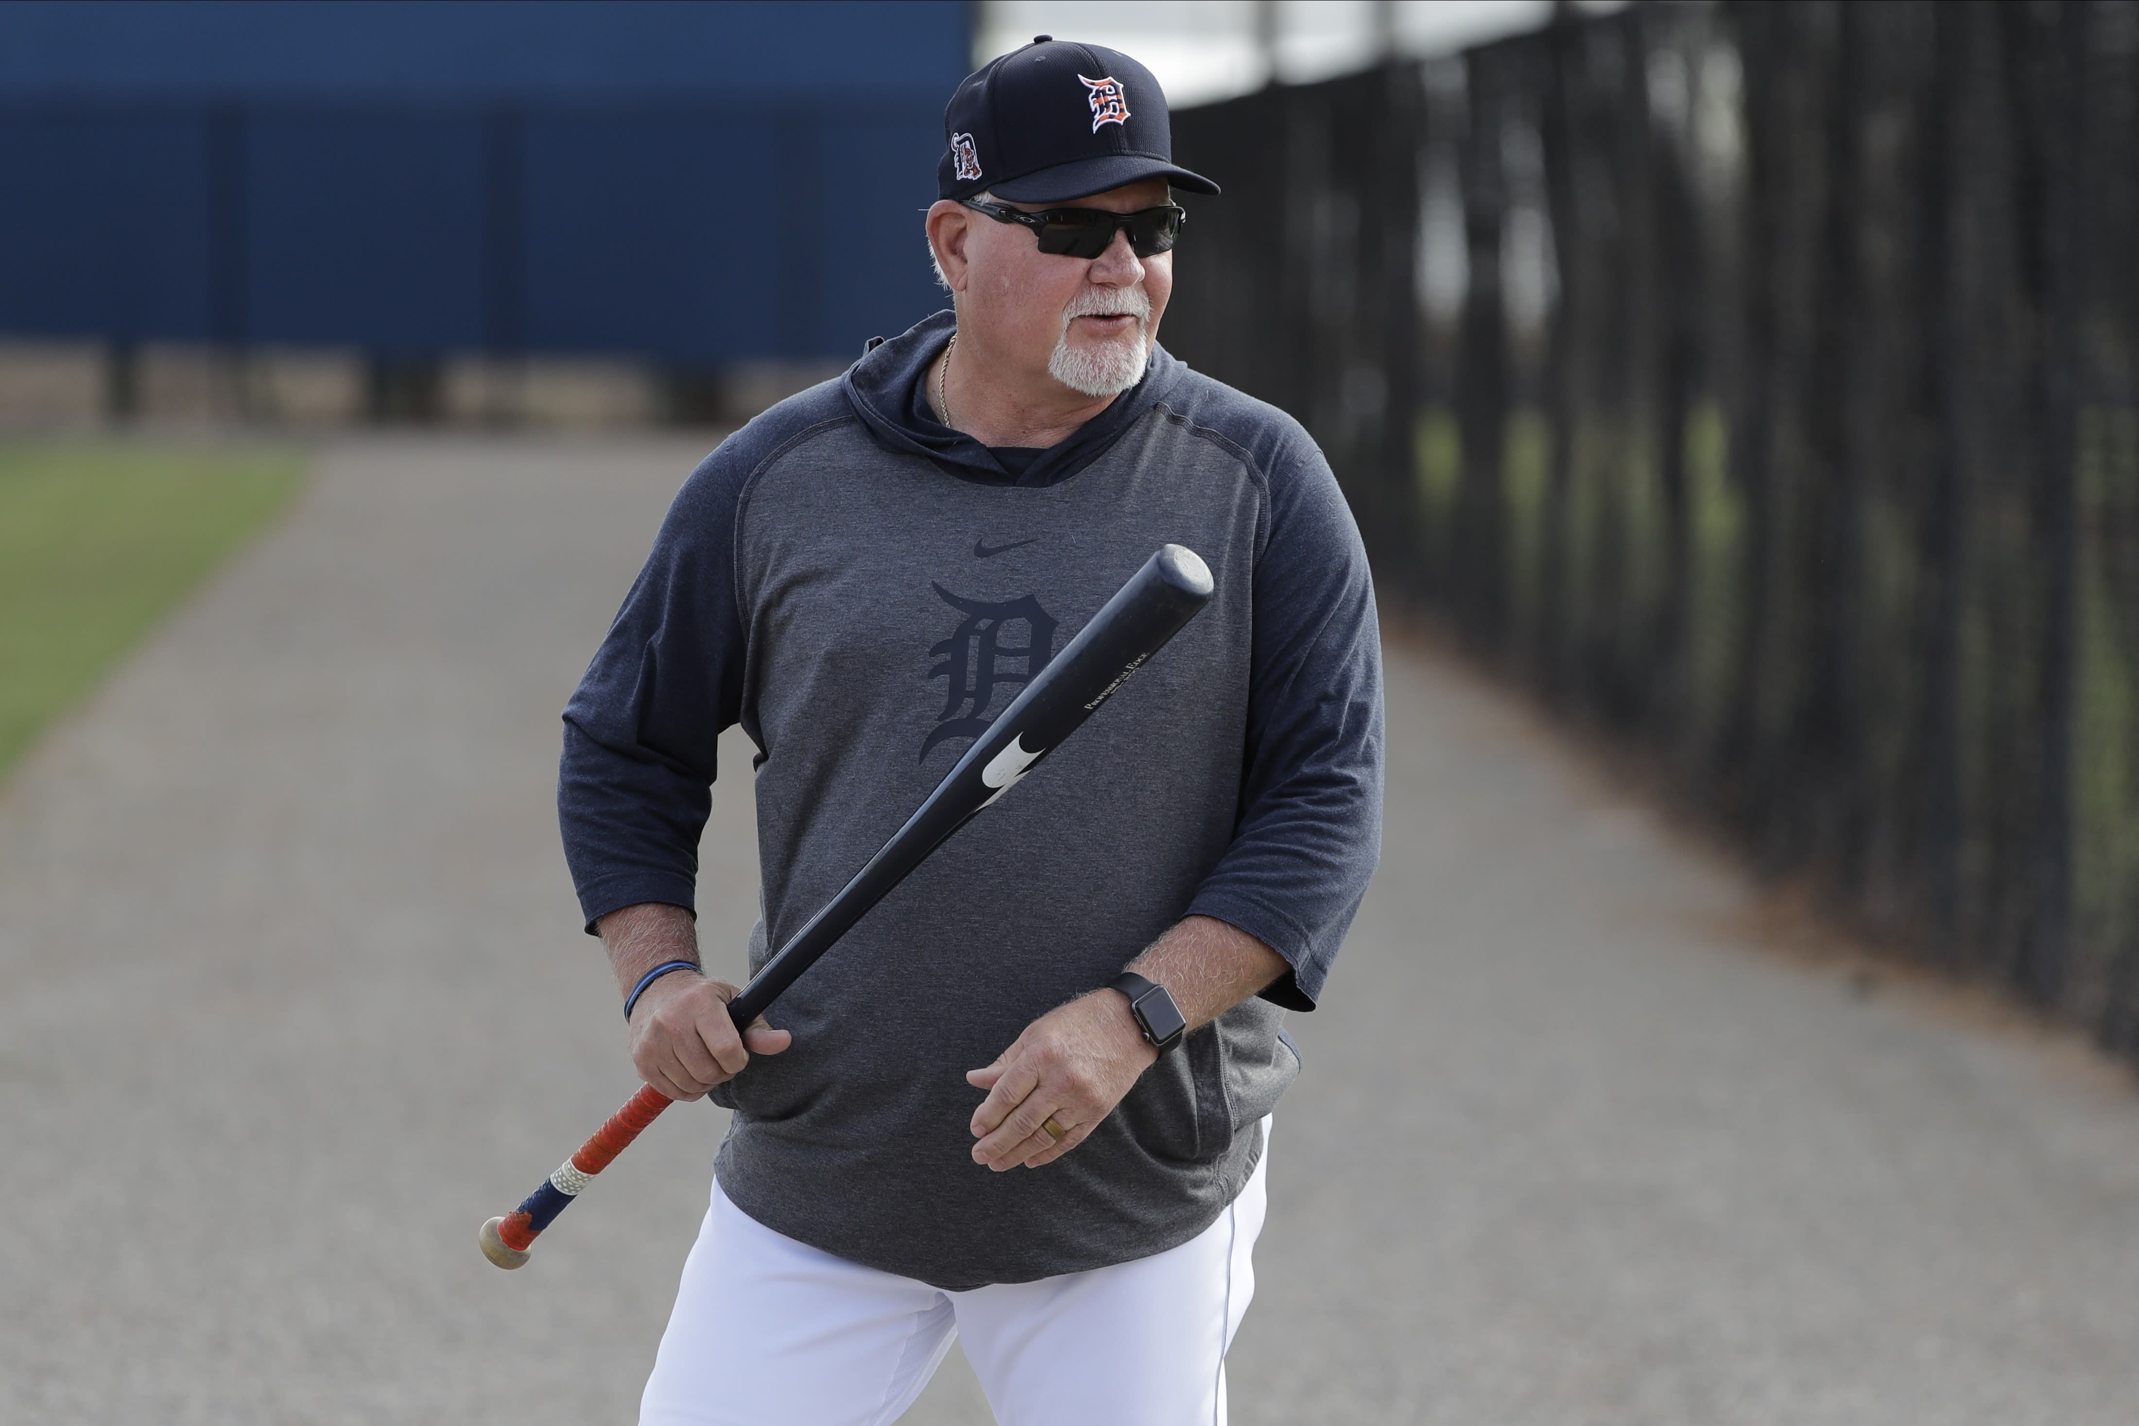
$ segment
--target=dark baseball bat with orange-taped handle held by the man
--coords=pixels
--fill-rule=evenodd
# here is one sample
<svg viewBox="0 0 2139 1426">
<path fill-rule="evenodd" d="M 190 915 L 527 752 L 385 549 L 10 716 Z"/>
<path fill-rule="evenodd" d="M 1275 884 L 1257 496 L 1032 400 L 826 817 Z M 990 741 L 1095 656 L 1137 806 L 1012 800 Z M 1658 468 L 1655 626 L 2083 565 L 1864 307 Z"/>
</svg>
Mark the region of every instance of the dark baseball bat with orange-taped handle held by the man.
<svg viewBox="0 0 2139 1426">
<path fill-rule="evenodd" d="M 1040 761 L 1059 748 L 1099 703 L 1136 669 L 1166 648 L 1196 614 L 1211 603 L 1211 567 L 1185 545 L 1161 545 L 1129 575 L 1129 582 L 1102 605 L 1091 622 L 1055 654 L 1025 691 L 1005 708 L 988 731 L 973 740 L 926 802 L 892 834 L 877 855 L 802 924 L 781 945 L 764 968 L 727 1005 L 729 1020 L 742 1028 L 766 1013 L 766 1007 L 819 956 L 847 934 L 871 906 L 928 859 L 952 832 L 975 812 L 1016 787 Z M 498 1268 L 518 1268 L 528 1259 L 528 1246 L 571 1206 L 571 1199 L 605 1169 L 616 1154 L 670 1105 L 650 1084 L 595 1131 L 520 1208 L 503 1219 L 490 1219 L 481 1229 L 483 1257 Z"/>
</svg>

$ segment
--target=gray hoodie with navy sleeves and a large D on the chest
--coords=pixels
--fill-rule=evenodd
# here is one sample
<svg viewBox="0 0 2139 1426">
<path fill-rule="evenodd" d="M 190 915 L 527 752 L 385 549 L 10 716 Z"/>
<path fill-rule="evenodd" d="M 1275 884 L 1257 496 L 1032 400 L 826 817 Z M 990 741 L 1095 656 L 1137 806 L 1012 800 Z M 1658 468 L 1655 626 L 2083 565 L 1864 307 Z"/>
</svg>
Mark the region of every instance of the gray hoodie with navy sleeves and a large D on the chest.
<svg viewBox="0 0 2139 1426">
<path fill-rule="evenodd" d="M 1322 453 L 1164 351 L 1076 436 L 997 455 L 920 383 L 950 314 L 781 402 L 684 483 L 565 712 L 560 819 L 588 924 L 691 906 L 714 738 L 757 744 L 751 966 L 920 806 L 1159 545 L 1211 605 L 772 1009 L 796 1035 L 717 1092 L 723 1191 L 759 1223 L 945 1289 L 1202 1231 L 1298 1073 L 1380 847 L 1373 592 Z M 1159 1058 L 1044 1169 L 971 1161 L 990 1063 L 1187 913 L 1290 973 Z"/>
</svg>

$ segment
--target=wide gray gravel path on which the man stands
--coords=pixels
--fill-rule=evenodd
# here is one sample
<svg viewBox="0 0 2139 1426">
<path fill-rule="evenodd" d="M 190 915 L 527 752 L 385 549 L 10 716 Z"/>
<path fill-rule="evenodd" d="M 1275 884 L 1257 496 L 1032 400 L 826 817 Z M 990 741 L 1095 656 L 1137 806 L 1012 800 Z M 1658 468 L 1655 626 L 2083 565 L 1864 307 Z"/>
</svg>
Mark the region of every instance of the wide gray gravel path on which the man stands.
<svg viewBox="0 0 2139 1426">
<path fill-rule="evenodd" d="M 530 1268 L 473 1236 L 633 1088 L 556 710 L 697 453 L 334 449 L 0 789 L 0 1420 L 633 1417 L 719 1112 Z M 2126 1075 L 1765 949 L 1737 872 L 1446 663 L 1392 656 L 1390 742 L 1234 1422 L 2139 1420 Z M 717 962 L 749 825 L 723 780 Z M 988 1417 L 954 1358 L 907 1420 Z"/>
</svg>

